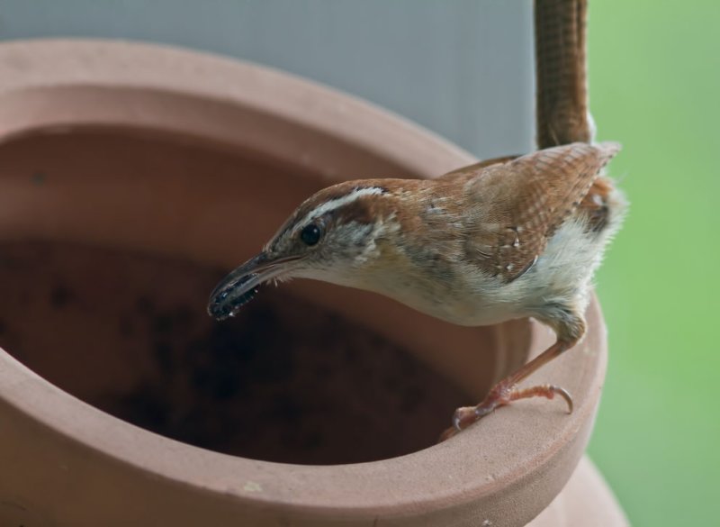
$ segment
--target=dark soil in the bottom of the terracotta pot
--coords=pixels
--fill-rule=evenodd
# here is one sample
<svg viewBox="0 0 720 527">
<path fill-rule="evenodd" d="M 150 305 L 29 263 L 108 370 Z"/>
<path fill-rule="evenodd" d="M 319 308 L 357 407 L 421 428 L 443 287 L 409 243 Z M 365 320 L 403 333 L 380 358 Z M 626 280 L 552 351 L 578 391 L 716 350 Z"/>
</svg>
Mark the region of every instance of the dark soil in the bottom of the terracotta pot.
<svg viewBox="0 0 720 527">
<path fill-rule="evenodd" d="M 401 347 L 267 287 L 225 323 L 216 269 L 77 245 L 0 246 L 0 345 L 108 413 L 211 450 L 293 463 L 428 447 L 462 394 Z"/>
</svg>

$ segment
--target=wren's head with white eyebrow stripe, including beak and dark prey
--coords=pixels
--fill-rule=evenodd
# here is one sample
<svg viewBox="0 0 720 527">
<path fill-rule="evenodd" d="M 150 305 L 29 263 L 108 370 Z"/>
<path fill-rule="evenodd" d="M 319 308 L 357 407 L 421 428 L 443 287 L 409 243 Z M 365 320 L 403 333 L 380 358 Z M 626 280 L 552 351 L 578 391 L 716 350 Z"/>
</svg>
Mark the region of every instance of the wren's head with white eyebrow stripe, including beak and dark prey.
<svg viewBox="0 0 720 527">
<path fill-rule="evenodd" d="M 303 202 L 255 258 L 215 287 L 208 313 L 233 316 L 268 281 L 313 278 L 359 286 L 362 269 L 377 257 L 375 241 L 387 231 L 387 180 L 329 186 Z"/>
</svg>

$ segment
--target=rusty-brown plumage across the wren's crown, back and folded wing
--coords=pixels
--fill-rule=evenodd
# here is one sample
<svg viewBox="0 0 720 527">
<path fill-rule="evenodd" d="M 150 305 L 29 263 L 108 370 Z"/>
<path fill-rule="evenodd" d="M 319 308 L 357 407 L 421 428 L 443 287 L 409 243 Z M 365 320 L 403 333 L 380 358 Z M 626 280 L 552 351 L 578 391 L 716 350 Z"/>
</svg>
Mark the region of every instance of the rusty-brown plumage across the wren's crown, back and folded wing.
<svg viewBox="0 0 720 527">
<path fill-rule="evenodd" d="M 385 198 L 360 196 L 334 209 L 325 221 L 363 224 L 392 217 L 401 231 L 423 233 L 421 242 L 428 250 L 416 248 L 418 258 L 464 260 L 512 281 L 533 265 L 570 215 L 585 214 L 591 225 L 602 224 L 612 186 L 599 173 L 618 150 L 617 143 L 572 143 L 485 160 L 437 179 L 349 181 L 311 196 L 281 232 L 302 224 L 320 204 L 374 187 Z"/>
</svg>

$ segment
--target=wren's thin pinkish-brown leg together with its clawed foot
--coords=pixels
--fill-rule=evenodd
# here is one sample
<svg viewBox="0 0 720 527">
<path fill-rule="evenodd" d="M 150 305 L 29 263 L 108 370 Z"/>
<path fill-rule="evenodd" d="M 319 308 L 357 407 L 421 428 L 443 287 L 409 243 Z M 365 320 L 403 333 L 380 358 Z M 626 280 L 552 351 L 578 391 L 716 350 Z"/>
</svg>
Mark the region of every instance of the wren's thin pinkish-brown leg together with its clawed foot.
<svg viewBox="0 0 720 527">
<path fill-rule="evenodd" d="M 445 441 L 454 436 L 457 432 L 462 431 L 470 424 L 475 423 L 488 413 L 491 413 L 495 408 L 510 404 L 518 399 L 527 399 L 529 397 L 547 397 L 548 399 L 553 399 L 555 395 L 560 395 L 568 404 L 569 413 L 572 413 L 572 396 L 563 387 L 539 385 L 529 388 L 518 388 L 519 382 L 535 373 L 538 368 L 541 368 L 543 365 L 561 355 L 563 351 L 571 349 L 577 341 L 580 341 L 582 334 L 585 332 L 585 323 L 582 319 L 578 319 L 577 321 L 573 321 L 572 324 L 563 324 L 561 327 L 556 326 L 554 329 L 558 334 L 558 339 L 550 348 L 493 386 L 481 404 L 464 406 L 455 410 L 453 426 L 443 432 L 440 436 L 440 441 Z"/>
</svg>

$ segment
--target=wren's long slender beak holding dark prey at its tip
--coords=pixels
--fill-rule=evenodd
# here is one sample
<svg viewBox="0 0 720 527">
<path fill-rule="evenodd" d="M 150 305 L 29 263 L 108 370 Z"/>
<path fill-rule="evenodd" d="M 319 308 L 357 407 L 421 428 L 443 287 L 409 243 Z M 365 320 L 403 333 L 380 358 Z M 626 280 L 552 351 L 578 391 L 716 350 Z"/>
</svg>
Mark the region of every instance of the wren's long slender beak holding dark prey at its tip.
<svg viewBox="0 0 720 527">
<path fill-rule="evenodd" d="M 212 291 L 208 302 L 208 314 L 216 320 L 224 320 L 238 313 L 257 294 L 257 286 L 281 277 L 291 270 L 291 262 L 299 257 L 272 258 L 266 251 L 232 271 Z"/>
</svg>

